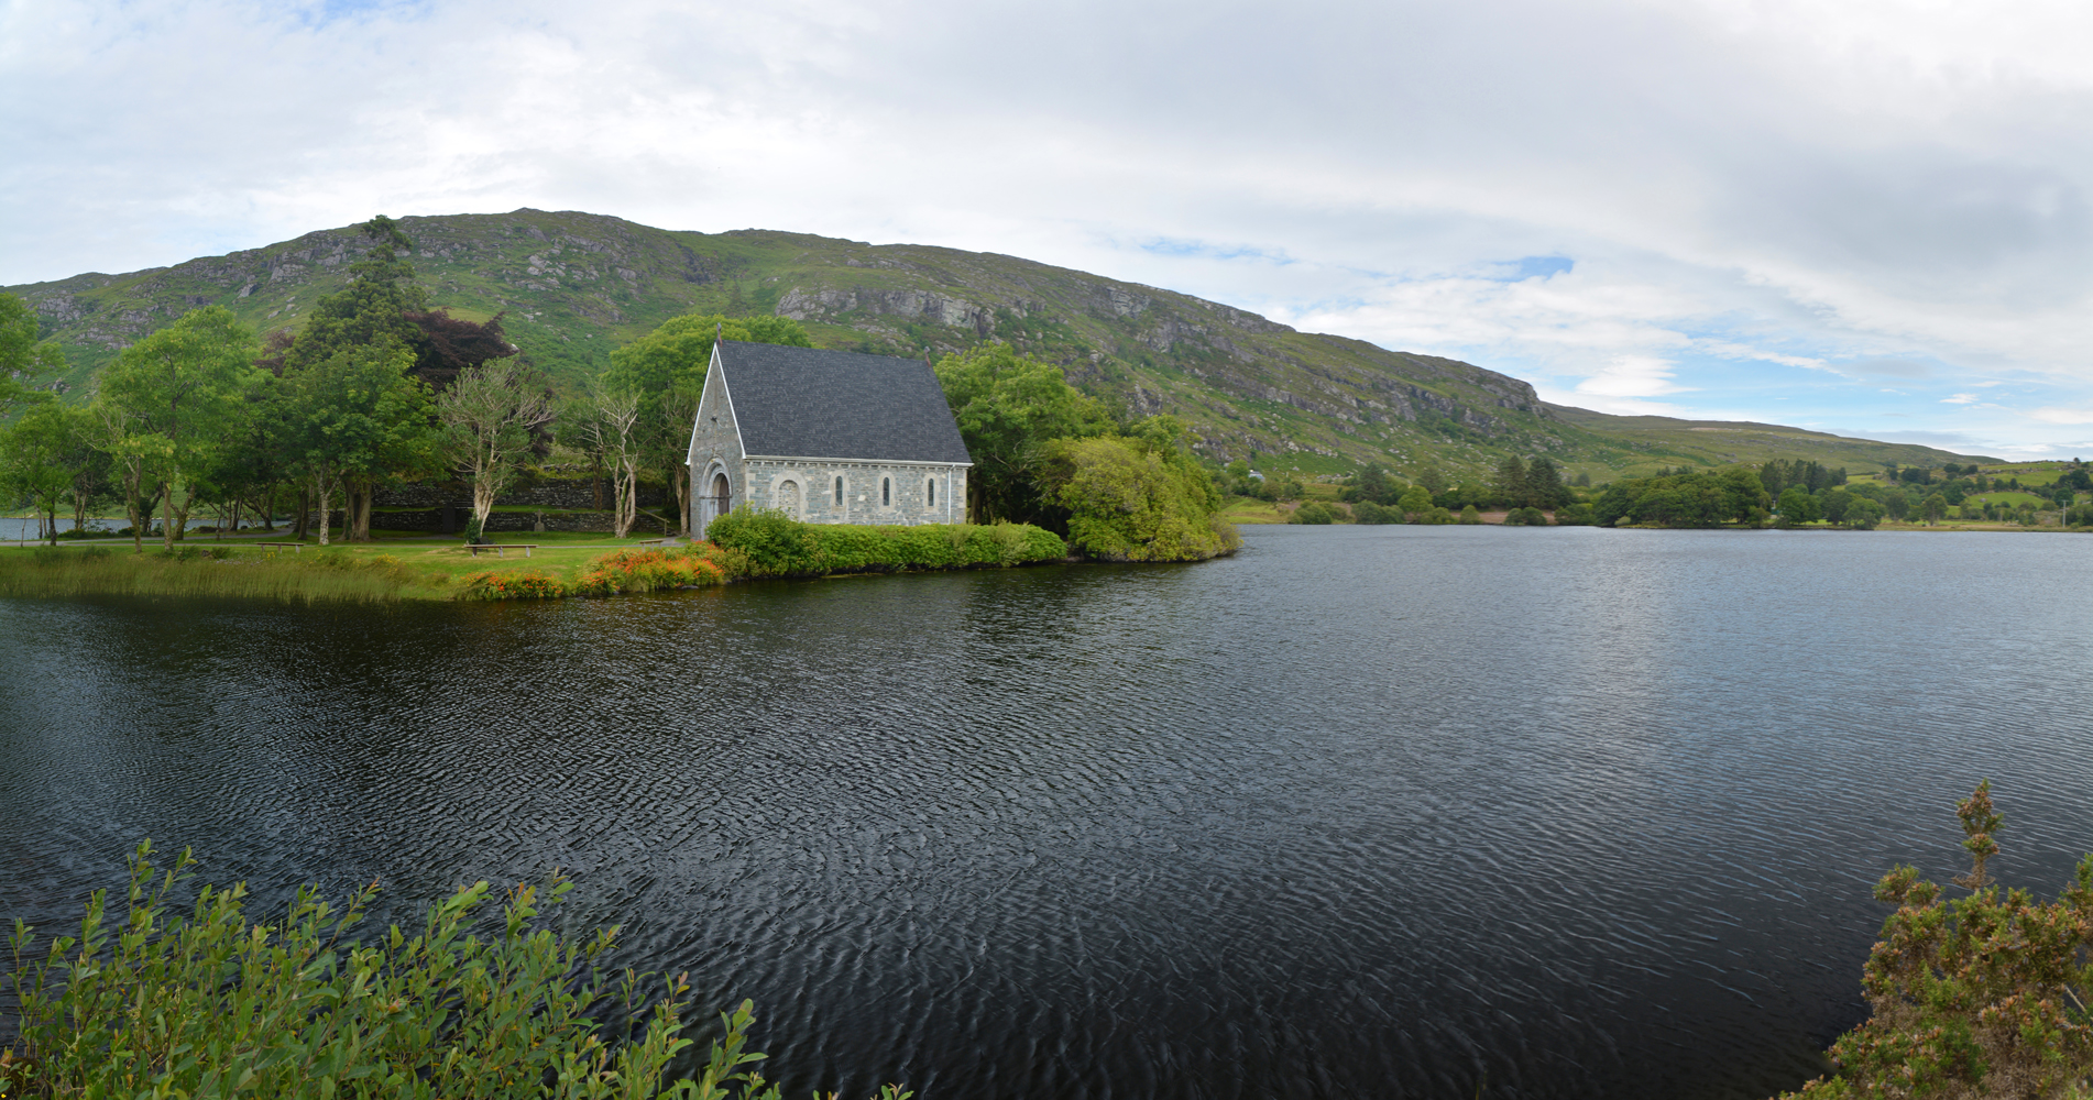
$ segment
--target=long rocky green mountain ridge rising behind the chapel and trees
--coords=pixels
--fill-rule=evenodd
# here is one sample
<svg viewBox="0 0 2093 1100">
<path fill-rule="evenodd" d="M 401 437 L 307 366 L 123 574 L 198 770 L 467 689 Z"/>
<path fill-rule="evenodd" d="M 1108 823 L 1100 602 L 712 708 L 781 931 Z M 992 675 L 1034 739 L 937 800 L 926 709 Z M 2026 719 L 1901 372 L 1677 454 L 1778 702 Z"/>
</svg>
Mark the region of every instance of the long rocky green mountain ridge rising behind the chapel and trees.
<svg viewBox="0 0 2093 1100">
<path fill-rule="evenodd" d="M 1829 464 L 1972 456 L 1777 425 L 1607 416 L 1551 406 L 1473 364 L 1298 333 L 1174 291 L 994 253 L 827 236 L 657 230 L 599 213 L 402 217 L 412 261 L 454 316 L 502 316 L 509 339 L 561 385 L 613 347 L 689 312 L 781 314 L 820 347 L 944 356 L 1005 341 L 1132 416 L 1174 412 L 1201 454 L 1329 473 L 1381 462 L 1484 473 L 1545 454 L 1595 481 L 1658 466 L 1815 458 Z M 4 287 L 67 353 L 84 391 L 121 347 L 199 305 L 260 330 L 297 328 L 366 249 L 354 228 L 119 276 Z"/>
</svg>

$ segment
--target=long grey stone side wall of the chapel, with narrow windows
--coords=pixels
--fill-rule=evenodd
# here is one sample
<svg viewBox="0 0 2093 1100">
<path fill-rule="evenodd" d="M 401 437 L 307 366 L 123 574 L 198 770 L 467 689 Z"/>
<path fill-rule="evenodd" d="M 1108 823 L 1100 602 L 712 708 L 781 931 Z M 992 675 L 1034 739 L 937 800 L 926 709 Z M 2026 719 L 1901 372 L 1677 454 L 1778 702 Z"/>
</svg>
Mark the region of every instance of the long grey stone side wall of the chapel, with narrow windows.
<svg viewBox="0 0 2093 1100">
<path fill-rule="evenodd" d="M 835 502 L 835 479 L 843 479 L 843 502 Z M 967 523 L 967 468 L 915 462 L 781 462 L 751 458 L 745 471 L 747 502 L 777 508 L 787 481 L 800 485 L 800 519 L 806 523 Z M 879 483 L 892 485 L 881 504 Z M 931 483 L 936 481 L 936 498 Z M 948 508 L 950 504 L 950 508 Z"/>
</svg>

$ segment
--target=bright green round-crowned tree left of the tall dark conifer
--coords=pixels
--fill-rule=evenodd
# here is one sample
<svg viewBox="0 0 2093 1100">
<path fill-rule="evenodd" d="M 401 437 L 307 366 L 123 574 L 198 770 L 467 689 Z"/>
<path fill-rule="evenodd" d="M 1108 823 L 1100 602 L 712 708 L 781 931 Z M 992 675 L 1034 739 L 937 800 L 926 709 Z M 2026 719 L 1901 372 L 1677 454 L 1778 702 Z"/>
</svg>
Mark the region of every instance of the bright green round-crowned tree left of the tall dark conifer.
<svg viewBox="0 0 2093 1100">
<path fill-rule="evenodd" d="M 243 391 L 253 385 L 253 330 L 224 305 L 190 310 L 123 349 L 103 374 L 100 397 L 134 422 L 130 445 L 161 464 L 161 525 L 167 548 L 188 519 L 190 475 L 232 431 Z M 182 510 L 176 517 L 176 491 Z"/>
</svg>

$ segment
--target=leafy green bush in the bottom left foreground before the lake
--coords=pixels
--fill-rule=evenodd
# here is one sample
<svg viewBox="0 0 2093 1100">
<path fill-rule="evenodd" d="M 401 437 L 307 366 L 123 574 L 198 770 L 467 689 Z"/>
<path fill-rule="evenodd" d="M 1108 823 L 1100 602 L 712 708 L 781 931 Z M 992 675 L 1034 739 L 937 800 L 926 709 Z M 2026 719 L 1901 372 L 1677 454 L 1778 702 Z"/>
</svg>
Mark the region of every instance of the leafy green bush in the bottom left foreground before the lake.
<svg viewBox="0 0 2093 1100">
<path fill-rule="evenodd" d="M 347 935 L 375 897 L 333 910 L 301 889 L 280 922 L 249 922 L 245 883 L 203 887 L 190 916 L 167 895 L 195 864 L 155 872 L 132 855 L 130 906 L 105 922 L 96 891 L 77 937 L 40 954 L 21 920 L 0 987 L 19 1004 L 19 1041 L 0 1052 L 0 1096 L 211 1098 L 774 1098 L 747 1067 L 749 1002 L 695 1079 L 670 1081 L 689 1008 L 684 979 L 640 1008 L 643 975 L 597 962 L 615 929 L 584 941 L 538 929 L 571 883 L 517 887 L 488 937 L 471 931 L 488 885 L 370 941 Z M 592 1010 L 615 1016 L 599 1023 Z M 605 1027 L 611 1039 L 605 1041 Z M 883 1100 L 908 1094 L 887 1085 Z"/>
</svg>

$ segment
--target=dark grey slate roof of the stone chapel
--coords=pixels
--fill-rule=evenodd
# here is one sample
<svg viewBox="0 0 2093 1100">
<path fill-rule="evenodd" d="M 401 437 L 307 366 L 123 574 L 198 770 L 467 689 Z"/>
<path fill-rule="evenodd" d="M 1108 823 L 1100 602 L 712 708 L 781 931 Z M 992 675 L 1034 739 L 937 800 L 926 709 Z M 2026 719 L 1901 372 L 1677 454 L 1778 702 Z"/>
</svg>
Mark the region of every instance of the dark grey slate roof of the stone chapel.
<svg viewBox="0 0 2093 1100">
<path fill-rule="evenodd" d="M 973 462 L 923 360 L 720 341 L 747 454 Z"/>
</svg>

